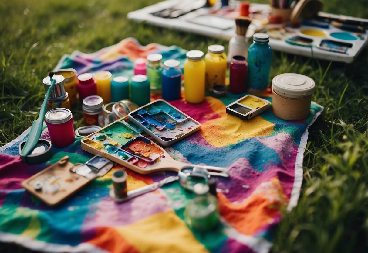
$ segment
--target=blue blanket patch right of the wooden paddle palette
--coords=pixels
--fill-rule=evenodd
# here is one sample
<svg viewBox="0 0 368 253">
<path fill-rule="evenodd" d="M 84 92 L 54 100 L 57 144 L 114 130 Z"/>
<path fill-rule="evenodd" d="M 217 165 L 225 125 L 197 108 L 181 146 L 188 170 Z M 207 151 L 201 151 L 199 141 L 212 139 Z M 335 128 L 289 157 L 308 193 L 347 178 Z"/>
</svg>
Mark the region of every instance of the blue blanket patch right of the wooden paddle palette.
<svg viewBox="0 0 368 253">
<path fill-rule="evenodd" d="M 192 142 L 177 142 L 172 147 L 194 164 L 204 163 L 210 166 L 227 167 L 239 158 L 245 157 L 258 172 L 268 170 L 271 165 L 281 166 L 276 151 L 263 145 L 255 138 L 223 148 L 206 148 Z"/>
</svg>

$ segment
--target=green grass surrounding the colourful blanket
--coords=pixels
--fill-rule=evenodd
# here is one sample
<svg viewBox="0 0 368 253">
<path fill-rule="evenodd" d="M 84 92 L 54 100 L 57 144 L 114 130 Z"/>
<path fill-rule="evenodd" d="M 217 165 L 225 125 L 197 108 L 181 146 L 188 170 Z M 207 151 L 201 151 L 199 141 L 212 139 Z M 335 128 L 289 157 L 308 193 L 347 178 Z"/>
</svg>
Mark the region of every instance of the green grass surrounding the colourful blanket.
<svg viewBox="0 0 368 253">
<path fill-rule="evenodd" d="M 1 1 L 0 146 L 31 126 L 45 94 L 42 79 L 62 55 L 95 52 L 135 37 L 206 51 L 227 41 L 129 21 L 129 11 L 157 2 Z M 267 3 L 268 1 L 258 1 Z M 325 0 L 324 10 L 368 18 L 367 1 Z M 325 110 L 310 128 L 298 205 L 273 231 L 273 252 L 368 251 L 368 48 L 352 64 L 273 52 L 272 77 L 301 73 L 316 82 Z M 73 106 L 75 126 L 81 106 Z M 11 246 L 9 246 L 11 248 Z M 21 250 L 18 247 L 14 247 Z"/>
</svg>

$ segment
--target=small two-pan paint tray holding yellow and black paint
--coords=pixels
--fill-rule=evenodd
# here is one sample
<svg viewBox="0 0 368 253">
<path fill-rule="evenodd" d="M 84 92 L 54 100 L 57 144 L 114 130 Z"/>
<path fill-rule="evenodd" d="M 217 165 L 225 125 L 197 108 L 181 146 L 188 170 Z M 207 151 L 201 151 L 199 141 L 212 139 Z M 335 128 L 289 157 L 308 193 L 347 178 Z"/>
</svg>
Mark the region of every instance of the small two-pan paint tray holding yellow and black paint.
<svg viewBox="0 0 368 253">
<path fill-rule="evenodd" d="M 226 112 L 241 119 L 251 119 L 270 106 L 270 101 L 248 94 L 227 105 Z"/>
</svg>

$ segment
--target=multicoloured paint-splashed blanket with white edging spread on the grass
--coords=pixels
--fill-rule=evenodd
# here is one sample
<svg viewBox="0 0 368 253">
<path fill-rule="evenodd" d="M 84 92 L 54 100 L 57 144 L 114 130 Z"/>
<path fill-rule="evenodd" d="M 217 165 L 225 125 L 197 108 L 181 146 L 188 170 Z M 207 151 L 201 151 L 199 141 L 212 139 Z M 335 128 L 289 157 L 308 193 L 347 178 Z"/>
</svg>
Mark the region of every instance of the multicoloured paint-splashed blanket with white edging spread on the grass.
<svg viewBox="0 0 368 253">
<path fill-rule="evenodd" d="M 141 46 L 127 38 L 95 53 L 65 55 L 56 69 L 72 67 L 79 74 L 109 70 L 130 76 L 133 60 L 151 52 L 183 63 L 186 51 L 177 46 Z M 60 205 L 48 207 L 26 192 L 21 182 L 65 155 L 72 163 L 84 163 L 93 155 L 82 150 L 80 138 L 75 138 L 66 148 L 53 147 L 48 162 L 25 164 L 18 145 L 26 139 L 26 131 L 0 148 L 0 241 L 43 252 L 268 252 L 272 246 L 269 231 L 280 221 L 280 209 L 297 204 L 307 129 L 323 108 L 312 103 L 311 114 L 300 121 L 284 121 L 272 110 L 244 121 L 225 110 L 241 96 L 208 96 L 196 105 L 184 99 L 170 101 L 202 126 L 165 150 L 182 162 L 230 171 L 230 178 L 216 178 L 221 215 L 216 228 L 198 232 L 187 226 L 183 211 L 193 193 L 178 182 L 116 204 L 109 190 L 112 171 L 121 165 Z M 47 128 L 42 138 L 49 138 Z M 175 174 L 126 171 L 128 190 Z"/>
</svg>

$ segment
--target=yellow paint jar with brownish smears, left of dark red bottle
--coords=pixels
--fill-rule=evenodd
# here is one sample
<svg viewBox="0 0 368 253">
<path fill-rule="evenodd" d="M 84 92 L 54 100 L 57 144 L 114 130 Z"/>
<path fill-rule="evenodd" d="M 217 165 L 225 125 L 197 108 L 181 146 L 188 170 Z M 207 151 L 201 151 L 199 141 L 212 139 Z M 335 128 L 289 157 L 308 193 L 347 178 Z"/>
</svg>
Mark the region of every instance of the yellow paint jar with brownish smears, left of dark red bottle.
<svg viewBox="0 0 368 253">
<path fill-rule="evenodd" d="M 213 86 L 217 84 L 225 86 L 227 59 L 224 46 L 208 46 L 208 52 L 205 56 L 205 63 L 206 90 L 212 91 Z"/>
</svg>

